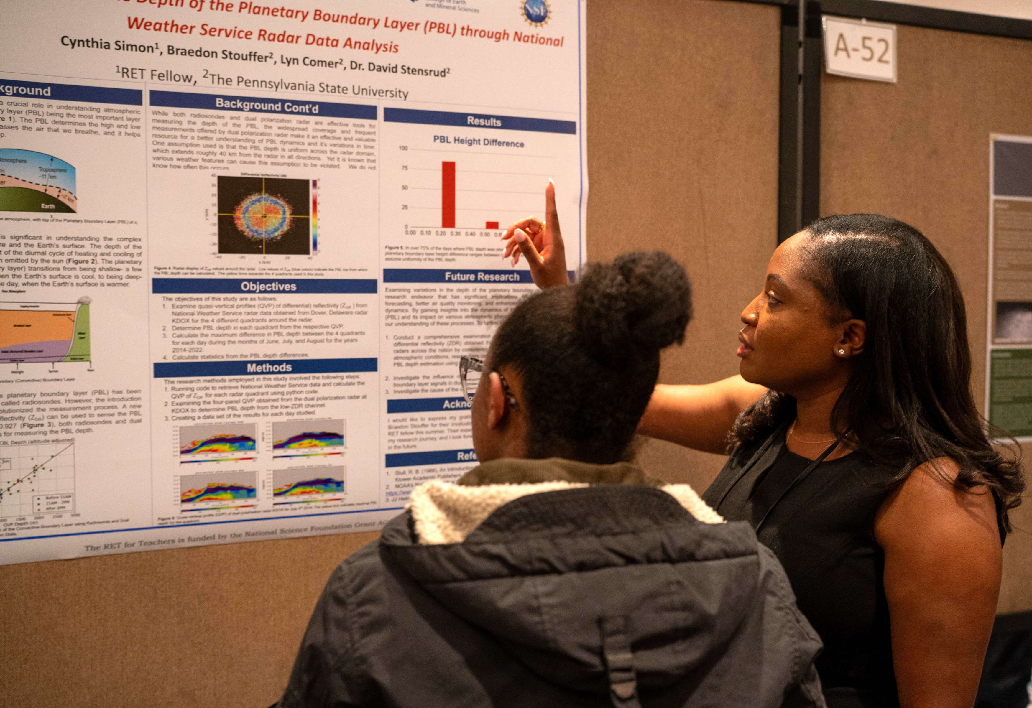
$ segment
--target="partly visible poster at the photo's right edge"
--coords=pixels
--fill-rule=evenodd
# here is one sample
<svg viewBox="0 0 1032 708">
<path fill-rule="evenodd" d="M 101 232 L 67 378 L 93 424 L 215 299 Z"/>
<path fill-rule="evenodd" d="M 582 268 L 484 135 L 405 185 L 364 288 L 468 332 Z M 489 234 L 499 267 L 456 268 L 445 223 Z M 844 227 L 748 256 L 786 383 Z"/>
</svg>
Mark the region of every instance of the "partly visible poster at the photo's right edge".
<svg viewBox="0 0 1032 708">
<path fill-rule="evenodd" d="M 1032 441 L 1032 137 L 990 140 L 989 420 Z"/>
</svg>

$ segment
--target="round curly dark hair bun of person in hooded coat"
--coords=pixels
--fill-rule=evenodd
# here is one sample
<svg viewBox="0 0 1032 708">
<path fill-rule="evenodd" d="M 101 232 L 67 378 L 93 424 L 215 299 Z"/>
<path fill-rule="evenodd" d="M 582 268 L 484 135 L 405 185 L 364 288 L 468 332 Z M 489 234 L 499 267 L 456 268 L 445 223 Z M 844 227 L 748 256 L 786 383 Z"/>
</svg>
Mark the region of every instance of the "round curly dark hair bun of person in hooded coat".
<svg viewBox="0 0 1032 708">
<path fill-rule="evenodd" d="M 574 326 L 591 355 L 609 363 L 654 357 L 684 340 L 691 286 L 662 251 L 589 265 L 577 284 Z"/>
</svg>

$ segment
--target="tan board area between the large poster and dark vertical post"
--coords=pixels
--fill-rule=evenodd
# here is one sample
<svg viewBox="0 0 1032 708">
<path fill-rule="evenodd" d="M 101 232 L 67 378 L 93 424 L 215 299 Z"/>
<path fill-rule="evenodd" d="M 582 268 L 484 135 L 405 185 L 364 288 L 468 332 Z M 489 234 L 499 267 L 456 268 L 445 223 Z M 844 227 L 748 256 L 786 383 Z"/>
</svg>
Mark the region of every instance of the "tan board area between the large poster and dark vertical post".
<svg viewBox="0 0 1032 708">
<path fill-rule="evenodd" d="M 609 47 L 588 57 L 588 253 L 673 255 L 691 279 L 695 320 L 660 381 L 734 376 L 739 314 L 777 246 L 780 10 L 592 2 L 588 30 L 589 47 Z M 643 46 L 644 69 L 626 61 Z M 702 490 L 724 458 L 649 441 L 640 460 Z"/>
</svg>

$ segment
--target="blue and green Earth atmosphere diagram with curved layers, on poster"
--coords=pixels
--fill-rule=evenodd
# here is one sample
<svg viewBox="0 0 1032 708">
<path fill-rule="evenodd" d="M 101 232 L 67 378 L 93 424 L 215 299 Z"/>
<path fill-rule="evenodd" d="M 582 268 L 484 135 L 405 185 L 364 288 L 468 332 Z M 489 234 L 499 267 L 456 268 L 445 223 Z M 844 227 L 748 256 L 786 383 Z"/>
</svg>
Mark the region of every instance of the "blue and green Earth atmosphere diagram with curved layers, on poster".
<svg viewBox="0 0 1032 708">
<path fill-rule="evenodd" d="M 0 149 L 0 212 L 76 211 L 74 167 L 46 153 Z"/>
</svg>

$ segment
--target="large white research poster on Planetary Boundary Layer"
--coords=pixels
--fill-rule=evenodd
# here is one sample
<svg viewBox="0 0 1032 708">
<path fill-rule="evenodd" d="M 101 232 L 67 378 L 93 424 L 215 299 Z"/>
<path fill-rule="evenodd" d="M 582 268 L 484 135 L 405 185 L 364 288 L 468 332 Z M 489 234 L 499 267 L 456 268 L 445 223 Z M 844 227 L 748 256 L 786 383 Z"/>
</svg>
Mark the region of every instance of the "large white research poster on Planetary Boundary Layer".
<svg viewBox="0 0 1032 708">
<path fill-rule="evenodd" d="M 0 562 L 378 529 L 585 259 L 577 0 L 37 0 L 0 46 Z"/>
</svg>

